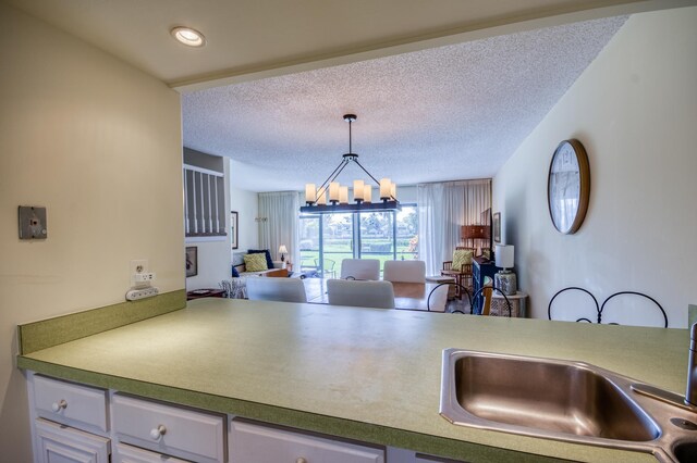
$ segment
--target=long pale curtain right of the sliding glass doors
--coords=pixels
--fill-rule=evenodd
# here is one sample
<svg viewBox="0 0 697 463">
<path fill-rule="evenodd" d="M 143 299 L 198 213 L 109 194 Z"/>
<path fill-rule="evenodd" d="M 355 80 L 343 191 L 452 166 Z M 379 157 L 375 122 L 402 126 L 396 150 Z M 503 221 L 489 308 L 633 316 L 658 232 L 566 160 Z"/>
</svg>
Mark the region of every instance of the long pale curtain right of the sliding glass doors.
<svg viewBox="0 0 697 463">
<path fill-rule="evenodd" d="M 462 243 L 462 225 L 481 224 L 491 208 L 491 179 L 417 185 L 419 259 L 427 275 L 439 275 Z"/>
</svg>

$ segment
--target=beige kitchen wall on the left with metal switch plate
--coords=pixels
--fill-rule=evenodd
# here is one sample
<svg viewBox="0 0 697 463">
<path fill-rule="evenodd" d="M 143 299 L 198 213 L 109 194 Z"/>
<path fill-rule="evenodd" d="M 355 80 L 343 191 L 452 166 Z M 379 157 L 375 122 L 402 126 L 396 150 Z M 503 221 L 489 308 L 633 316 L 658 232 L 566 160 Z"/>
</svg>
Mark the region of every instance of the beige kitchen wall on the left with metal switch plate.
<svg viewBox="0 0 697 463">
<path fill-rule="evenodd" d="M 26 462 L 16 325 L 124 301 L 133 259 L 184 287 L 180 98 L 3 3 L 0 57 L 0 460 Z M 19 240 L 19 205 L 47 240 Z"/>
</svg>

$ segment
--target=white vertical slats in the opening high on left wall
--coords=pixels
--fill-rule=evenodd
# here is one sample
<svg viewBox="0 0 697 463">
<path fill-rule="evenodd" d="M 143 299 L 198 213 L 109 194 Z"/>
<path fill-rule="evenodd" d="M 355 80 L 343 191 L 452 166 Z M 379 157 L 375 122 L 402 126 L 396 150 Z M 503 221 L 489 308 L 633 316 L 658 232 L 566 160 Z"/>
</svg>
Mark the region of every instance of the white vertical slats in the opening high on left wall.
<svg viewBox="0 0 697 463">
<path fill-rule="evenodd" d="M 225 236 L 224 174 L 184 164 L 184 230 L 187 237 Z"/>
</svg>

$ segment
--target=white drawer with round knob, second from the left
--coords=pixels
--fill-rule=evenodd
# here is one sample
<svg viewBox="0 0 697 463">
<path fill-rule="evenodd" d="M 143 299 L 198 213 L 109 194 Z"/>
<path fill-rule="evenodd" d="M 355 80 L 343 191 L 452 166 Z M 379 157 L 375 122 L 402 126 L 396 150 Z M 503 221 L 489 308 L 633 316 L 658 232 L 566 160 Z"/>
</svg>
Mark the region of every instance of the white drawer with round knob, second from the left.
<svg viewBox="0 0 697 463">
<path fill-rule="evenodd" d="M 221 415 L 114 395 L 113 430 L 119 440 L 197 462 L 224 462 Z"/>
</svg>

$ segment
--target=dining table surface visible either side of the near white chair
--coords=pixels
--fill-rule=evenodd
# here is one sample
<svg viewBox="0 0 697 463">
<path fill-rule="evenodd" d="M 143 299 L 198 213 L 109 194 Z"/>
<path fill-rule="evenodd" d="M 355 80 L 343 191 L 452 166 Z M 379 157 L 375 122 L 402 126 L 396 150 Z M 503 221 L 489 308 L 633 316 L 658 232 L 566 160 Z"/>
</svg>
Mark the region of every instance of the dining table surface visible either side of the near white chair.
<svg viewBox="0 0 697 463">
<path fill-rule="evenodd" d="M 327 281 L 330 278 L 304 278 L 307 302 L 328 304 Z M 394 289 L 394 308 L 398 310 L 428 310 L 428 295 L 438 286 L 437 283 L 392 281 Z M 431 298 L 431 303 L 432 303 Z M 444 312 L 443 308 L 431 309 L 430 312 Z"/>
</svg>

